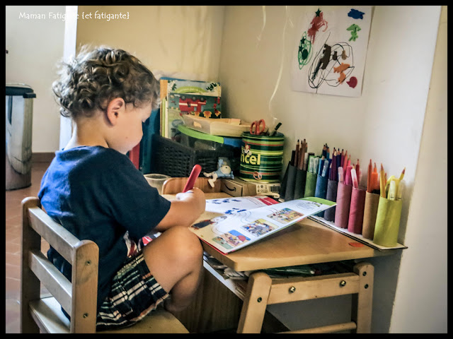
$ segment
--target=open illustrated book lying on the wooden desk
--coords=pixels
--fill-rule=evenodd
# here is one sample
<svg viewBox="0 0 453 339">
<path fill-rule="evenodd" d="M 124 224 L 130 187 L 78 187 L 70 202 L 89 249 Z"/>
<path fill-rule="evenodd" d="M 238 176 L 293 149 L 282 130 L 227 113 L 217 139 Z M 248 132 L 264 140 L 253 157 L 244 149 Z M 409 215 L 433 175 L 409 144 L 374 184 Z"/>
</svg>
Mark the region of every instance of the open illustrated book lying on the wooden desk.
<svg viewBox="0 0 453 339">
<path fill-rule="evenodd" d="M 207 212 L 222 214 L 199 221 L 190 230 L 226 254 L 335 205 L 333 201 L 314 197 L 284 203 L 267 196 L 208 199 Z"/>
</svg>

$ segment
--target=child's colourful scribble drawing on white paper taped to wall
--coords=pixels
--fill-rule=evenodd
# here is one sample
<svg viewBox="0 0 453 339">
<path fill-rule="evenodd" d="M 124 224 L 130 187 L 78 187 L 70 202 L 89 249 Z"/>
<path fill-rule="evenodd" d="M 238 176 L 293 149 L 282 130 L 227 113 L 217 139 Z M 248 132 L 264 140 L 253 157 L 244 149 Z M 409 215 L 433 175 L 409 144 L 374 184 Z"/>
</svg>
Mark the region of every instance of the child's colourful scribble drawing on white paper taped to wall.
<svg viewBox="0 0 453 339">
<path fill-rule="evenodd" d="M 300 18 L 292 90 L 360 97 L 372 6 L 320 7 Z"/>
</svg>

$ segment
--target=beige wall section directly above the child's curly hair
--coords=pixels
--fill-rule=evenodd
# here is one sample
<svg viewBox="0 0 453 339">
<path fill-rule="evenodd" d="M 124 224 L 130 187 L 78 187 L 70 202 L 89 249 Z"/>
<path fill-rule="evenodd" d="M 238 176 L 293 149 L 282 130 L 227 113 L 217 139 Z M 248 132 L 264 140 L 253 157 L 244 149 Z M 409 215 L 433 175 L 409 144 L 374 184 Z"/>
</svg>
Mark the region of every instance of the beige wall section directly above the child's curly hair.
<svg viewBox="0 0 453 339">
<path fill-rule="evenodd" d="M 96 11 L 129 18 L 95 19 Z M 79 6 L 77 48 L 107 44 L 132 52 L 155 73 L 217 81 L 223 20 L 224 6 Z"/>
</svg>

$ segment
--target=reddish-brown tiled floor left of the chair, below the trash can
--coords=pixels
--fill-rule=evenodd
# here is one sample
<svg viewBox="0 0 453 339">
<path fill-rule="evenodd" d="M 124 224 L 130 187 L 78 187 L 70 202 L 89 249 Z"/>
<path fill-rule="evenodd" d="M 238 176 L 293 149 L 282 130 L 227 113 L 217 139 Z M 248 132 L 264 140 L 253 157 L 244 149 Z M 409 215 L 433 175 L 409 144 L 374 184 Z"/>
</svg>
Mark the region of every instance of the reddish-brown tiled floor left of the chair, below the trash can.
<svg viewBox="0 0 453 339">
<path fill-rule="evenodd" d="M 21 286 L 21 201 L 27 196 L 37 196 L 42 175 L 49 162 L 35 162 L 32 167 L 31 186 L 6 191 L 6 333 L 19 331 L 19 289 Z M 41 249 L 49 248 L 43 243 Z"/>
</svg>

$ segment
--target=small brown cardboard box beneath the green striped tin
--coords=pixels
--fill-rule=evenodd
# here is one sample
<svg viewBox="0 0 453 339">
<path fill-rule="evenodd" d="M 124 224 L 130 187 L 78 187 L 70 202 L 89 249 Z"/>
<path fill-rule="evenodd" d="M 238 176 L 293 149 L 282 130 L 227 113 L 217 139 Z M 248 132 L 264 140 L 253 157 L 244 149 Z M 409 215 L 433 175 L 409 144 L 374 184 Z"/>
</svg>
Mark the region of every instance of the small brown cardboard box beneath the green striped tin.
<svg viewBox="0 0 453 339">
<path fill-rule="evenodd" d="M 280 195 L 280 183 L 254 183 L 246 182 L 245 180 L 234 178 L 234 179 L 222 179 L 222 186 L 220 188 L 222 192 L 225 192 L 231 196 L 273 196 L 273 198 L 279 198 Z"/>
</svg>

